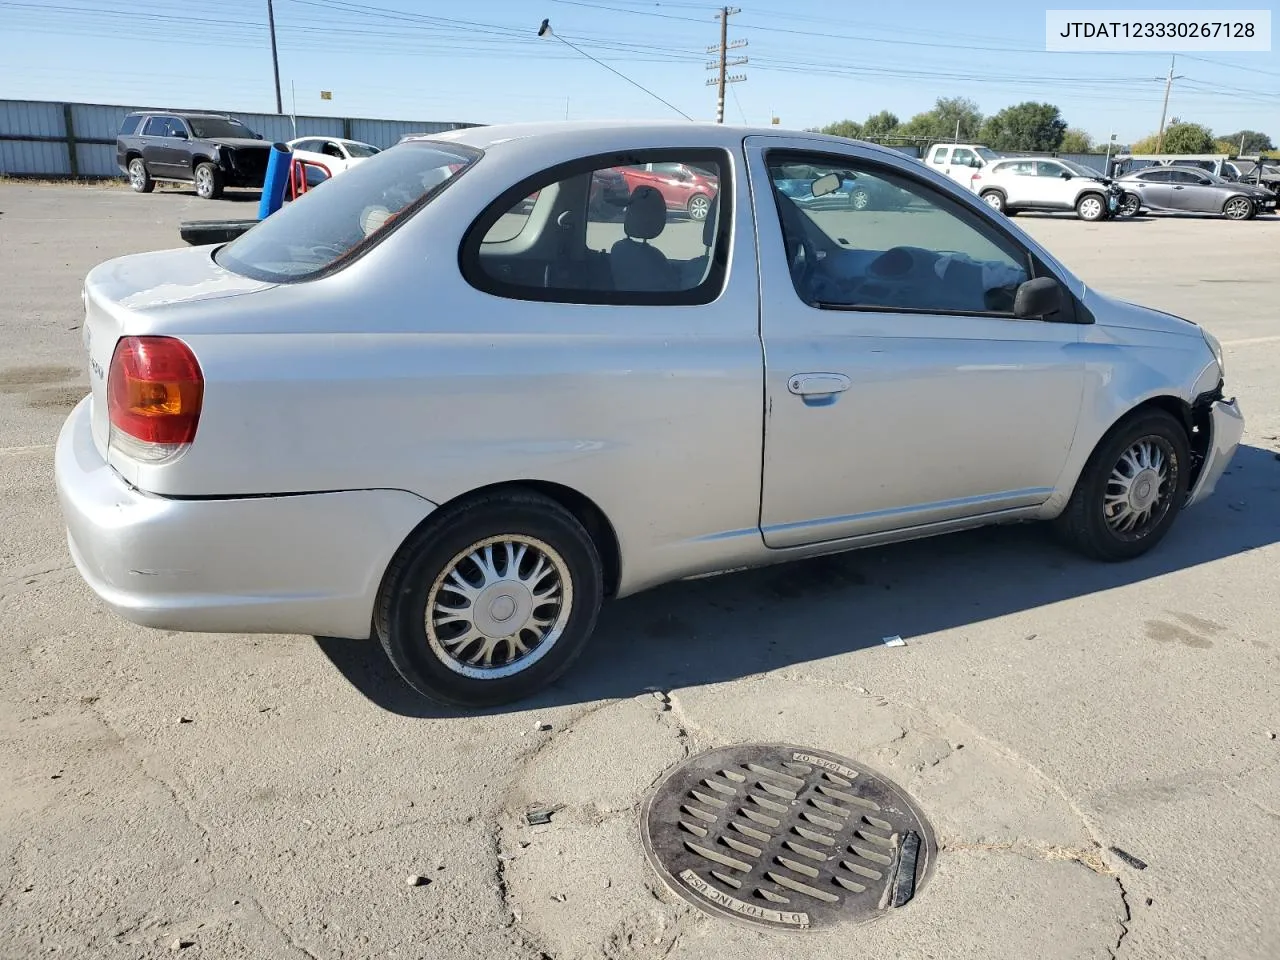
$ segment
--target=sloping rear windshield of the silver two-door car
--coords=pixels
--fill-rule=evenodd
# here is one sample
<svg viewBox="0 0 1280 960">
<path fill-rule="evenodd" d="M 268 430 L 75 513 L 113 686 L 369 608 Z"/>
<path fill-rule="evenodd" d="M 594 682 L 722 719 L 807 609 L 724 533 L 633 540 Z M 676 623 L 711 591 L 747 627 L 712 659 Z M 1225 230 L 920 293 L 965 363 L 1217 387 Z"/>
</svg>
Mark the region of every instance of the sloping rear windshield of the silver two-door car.
<svg viewBox="0 0 1280 960">
<path fill-rule="evenodd" d="M 479 159 L 480 151 L 453 143 L 401 143 L 285 204 L 214 259 L 268 283 L 315 276 L 375 242 L 398 216 L 412 216 Z"/>
</svg>

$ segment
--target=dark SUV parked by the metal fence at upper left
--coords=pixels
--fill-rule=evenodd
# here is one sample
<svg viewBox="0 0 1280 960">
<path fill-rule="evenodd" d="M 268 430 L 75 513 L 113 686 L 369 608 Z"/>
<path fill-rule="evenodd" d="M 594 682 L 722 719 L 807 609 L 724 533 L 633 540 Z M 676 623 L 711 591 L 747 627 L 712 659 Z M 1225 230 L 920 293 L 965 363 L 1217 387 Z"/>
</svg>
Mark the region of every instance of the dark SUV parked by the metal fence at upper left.
<svg viewBox="0 0 1280 960">
<path fill-rule="evenodd" d="M 138 193 L 156 180 L 195 183 L 205 200 L 223 187 L 261 187 L 270 154 L 261 134 L 216 114 L 129 114 L 115 137 L 115 163 Z"/>
</svg>

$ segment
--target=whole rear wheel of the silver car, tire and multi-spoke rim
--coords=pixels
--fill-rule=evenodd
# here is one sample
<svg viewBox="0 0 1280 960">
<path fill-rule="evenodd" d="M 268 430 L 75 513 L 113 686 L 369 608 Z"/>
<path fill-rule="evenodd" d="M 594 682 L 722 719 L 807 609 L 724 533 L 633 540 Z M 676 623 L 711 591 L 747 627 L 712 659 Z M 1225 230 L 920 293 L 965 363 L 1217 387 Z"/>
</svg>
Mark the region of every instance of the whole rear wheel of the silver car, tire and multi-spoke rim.
<svg viewBox="0 0 1280 960">
<path fill-rule="evenodd" d="M 586 645 L 600 558 L 554 500 L 507 492 L 445 508 L 401 548 L 375 611 L 383 649 L 424 696 L 493 707 L 543 689 Z"/>
</svg>

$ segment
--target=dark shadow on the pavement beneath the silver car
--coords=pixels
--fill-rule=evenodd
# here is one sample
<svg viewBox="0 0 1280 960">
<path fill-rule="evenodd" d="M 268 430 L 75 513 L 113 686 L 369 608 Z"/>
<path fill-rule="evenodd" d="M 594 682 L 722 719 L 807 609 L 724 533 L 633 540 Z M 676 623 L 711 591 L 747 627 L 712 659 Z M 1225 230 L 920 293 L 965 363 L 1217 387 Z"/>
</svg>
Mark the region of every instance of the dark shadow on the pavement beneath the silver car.
<svg viewBox="0 0 1280 960">
<path fill-rule="evenodd" d="M 605 604 L 568 675 L 535 698 L 486 713 L 716 684 L 1139 584 L 1280 541 L 1280 454 L 1239 448 L 1217 492 L 1187 511 L 1151 553 L 1097 563 L 1044 525 L 968 534 L 684 581 Z M 1046 628 L 1051 621 L 1046 622 Z M 417 696 L 376 640 L 317 637 L 372 703 L 407 717 L 457 712 Z"/>
</svg>

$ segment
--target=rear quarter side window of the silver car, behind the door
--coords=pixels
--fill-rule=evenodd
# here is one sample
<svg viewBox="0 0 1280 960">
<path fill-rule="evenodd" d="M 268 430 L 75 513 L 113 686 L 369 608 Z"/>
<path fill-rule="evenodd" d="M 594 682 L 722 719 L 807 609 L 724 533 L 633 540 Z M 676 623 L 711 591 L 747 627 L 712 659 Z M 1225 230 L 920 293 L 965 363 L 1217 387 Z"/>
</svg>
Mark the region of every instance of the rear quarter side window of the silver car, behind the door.
<svg viewBox="0 0 1280 960">
<path fill-rule="evenodd" d="M 516 300 L 714 300 L 727 261 L 726 157 L 712 150 L 650 157 L 566 164 L 508 189 L 467 232 L 467 280 Z"/>
</svg>

